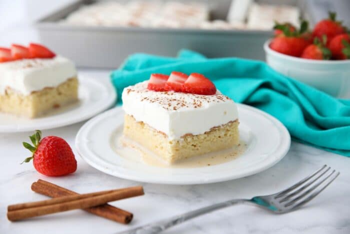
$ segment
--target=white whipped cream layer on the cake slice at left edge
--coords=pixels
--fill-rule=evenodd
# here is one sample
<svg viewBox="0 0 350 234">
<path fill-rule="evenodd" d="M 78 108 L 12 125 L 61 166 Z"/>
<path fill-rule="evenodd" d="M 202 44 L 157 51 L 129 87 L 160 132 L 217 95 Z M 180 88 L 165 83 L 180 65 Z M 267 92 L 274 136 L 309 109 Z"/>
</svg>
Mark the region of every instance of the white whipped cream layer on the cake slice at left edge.
<svg viewBox="0 0 350 234">
<path fill-rule="evenodd" d="M 26 96 L 33 91 L 58 86 L 75 76 L 74 64 L 60 56 L 0 63 L 0 94 L 8 87 Z"/>
</svg>

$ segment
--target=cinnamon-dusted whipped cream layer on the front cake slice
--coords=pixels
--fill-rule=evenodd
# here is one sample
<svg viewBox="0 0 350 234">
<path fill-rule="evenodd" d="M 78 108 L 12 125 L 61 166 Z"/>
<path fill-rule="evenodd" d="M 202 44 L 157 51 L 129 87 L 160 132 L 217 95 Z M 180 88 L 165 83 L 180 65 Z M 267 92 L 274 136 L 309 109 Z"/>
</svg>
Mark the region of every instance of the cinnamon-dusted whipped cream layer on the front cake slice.
<svg viewBox="0 0 350 234">
<path fill-rule="evenodd" d="M 203 134 L 238 118 L 235 103 L 219 91 L 214 95 L 155 92 L 147 89 L 147 83 L 126 87 L 121 97 L 122 108 L 136 121 L 166 134 L 170 140 L 186 134 Z"/>
</svg>

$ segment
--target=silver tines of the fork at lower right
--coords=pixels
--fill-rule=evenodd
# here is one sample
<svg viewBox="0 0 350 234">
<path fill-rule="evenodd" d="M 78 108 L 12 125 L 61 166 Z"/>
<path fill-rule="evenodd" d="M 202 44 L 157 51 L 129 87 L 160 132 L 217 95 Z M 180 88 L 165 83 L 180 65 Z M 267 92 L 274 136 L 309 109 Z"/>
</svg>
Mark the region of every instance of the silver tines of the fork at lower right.
<svg viewBox="0 0 350 234">
<path fill-rule="evenodd" d="M 297 208 L 326 188 L 340 173 L 327 165 L 274 196 L 285 208 Z"/>
</svg>

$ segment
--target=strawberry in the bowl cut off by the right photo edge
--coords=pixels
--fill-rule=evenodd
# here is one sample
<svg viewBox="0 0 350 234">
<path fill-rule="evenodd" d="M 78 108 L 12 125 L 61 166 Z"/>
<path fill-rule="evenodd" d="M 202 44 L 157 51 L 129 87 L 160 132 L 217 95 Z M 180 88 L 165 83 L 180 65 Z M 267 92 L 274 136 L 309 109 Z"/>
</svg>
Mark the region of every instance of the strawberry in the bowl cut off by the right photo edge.
<svg viewBox="0 0 350 234">
<path fill-rule="evenodd" d="M 333 59 L 350 59 L 350 36 L 348 34 L 335 36 L 329 43 L 329 50 Z"/>
</svg>

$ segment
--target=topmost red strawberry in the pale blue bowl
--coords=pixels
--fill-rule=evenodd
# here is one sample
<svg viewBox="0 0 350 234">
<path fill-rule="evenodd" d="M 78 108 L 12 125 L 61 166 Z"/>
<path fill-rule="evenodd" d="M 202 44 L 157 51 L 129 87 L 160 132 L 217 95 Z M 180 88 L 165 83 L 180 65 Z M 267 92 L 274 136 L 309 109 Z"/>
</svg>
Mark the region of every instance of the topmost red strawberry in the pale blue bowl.
<svg viewBox="0 0 350 234">
<path fill-rule="evenodd" d="M 322 40 L 322 36 L 327 36 L 328 43 L 335 37 L 336 35 L 345 33 L 345 28 L 341 25 L 341 22 L 336 21 L 336 14 L 333 12 L 329 12 L 329 18 L 321 20 L 318 22 L 313 28 L 312 36 Z"/>
</svg>

